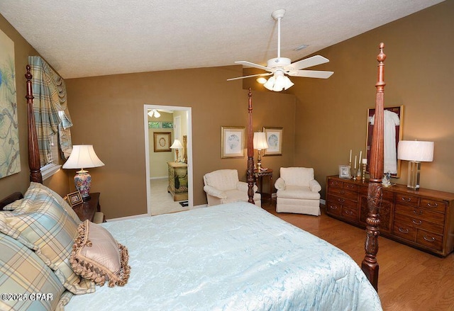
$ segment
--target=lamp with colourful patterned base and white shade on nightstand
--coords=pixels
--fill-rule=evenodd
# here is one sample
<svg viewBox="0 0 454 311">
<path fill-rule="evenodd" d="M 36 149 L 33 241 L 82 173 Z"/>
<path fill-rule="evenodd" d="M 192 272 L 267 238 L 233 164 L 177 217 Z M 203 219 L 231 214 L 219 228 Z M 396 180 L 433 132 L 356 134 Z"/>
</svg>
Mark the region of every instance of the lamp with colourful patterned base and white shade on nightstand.
<svg viewBox="0 0 454 311">
<path fill-rule="evenodd" d="M 82 196 L 82 200 L 90 199 L 90 186 L 92 185 L 92 176 L 88 171 L 90 167 L 104 166 L 93 149 L 93 145 L 74 145 L 67 162 L 63 164 L 63 169 L 80 169 L 74 176 L 74 186 Z"/>
</svg>

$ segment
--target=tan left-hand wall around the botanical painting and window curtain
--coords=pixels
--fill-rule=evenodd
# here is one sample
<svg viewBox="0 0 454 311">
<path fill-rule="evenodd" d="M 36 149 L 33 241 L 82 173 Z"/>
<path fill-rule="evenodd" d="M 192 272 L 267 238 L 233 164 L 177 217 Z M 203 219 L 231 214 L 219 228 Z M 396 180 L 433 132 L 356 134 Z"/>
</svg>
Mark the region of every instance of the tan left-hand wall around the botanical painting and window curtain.
<svg viewBox="0 0 454 311">
<path fill-rule="evenodd" d="M 21 154 L 21 171 L 11 176 L 0 179 L 0 199 L 14 191 L 25 193 L 30 185 L 30 172 L 28 170 L 28 132 L 27 132 L 27 106 L 26 106 L 26 64 L 28 55 L 38 55 L 35 49 L 0 15 L 0 30 L 14 42 L 14 58 L 16 62 L 16 91 L 18 106 L 19 148 Z M 69 192 L 65 171 L 59 171 L 55 176 L 44 182 L 62 196 Z"/>
</svg>

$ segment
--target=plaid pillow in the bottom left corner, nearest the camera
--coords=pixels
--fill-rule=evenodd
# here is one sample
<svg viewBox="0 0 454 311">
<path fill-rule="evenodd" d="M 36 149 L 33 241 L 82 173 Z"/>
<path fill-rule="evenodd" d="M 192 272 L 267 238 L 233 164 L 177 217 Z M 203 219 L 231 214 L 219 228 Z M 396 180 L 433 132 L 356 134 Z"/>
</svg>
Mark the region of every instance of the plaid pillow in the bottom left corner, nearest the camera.
<svg viewBox="0 0 454 311">
<path fill-rule="evenodd" d="M 0 293 L 16 294 L 2 297 L 0 310 L 55 310 L 68 301 L 60 299 L 63 292 L 55 273 L 31 249 L 0 233 Z"/>
</svg>

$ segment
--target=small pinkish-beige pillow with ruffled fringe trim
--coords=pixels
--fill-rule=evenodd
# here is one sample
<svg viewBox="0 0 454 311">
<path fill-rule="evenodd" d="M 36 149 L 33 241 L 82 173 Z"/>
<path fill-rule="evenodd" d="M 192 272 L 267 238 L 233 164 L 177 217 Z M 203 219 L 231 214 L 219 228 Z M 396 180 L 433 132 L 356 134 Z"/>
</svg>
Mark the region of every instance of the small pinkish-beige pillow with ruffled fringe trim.
<svg viewBox="0 0 454 311">
<path fill-rule="evenodd" d="M 89 220 L 82 222 L 79 236 L 74 240 L 71 265 L 74 272 L 84 278 L 109 287 L 128 283 L 131 267 L 128 266 L 128 249 L 116 242 L 104 227 Z"/>
</svg>

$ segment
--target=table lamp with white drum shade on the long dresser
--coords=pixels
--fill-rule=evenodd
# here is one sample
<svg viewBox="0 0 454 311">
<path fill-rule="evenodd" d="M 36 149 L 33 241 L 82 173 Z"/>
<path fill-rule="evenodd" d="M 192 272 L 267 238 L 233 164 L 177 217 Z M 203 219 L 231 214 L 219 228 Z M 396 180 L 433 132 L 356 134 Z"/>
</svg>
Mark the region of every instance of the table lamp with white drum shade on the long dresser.
<svg viewBox="0 0 454 311">
<path fill-rule="evenodd" d="M 433 161 L 433 142 L 401 140 L 397 146 L 397 159 L 409 161 L 406 186 L 418 190 L 421 162 Z"/>
</svg>

